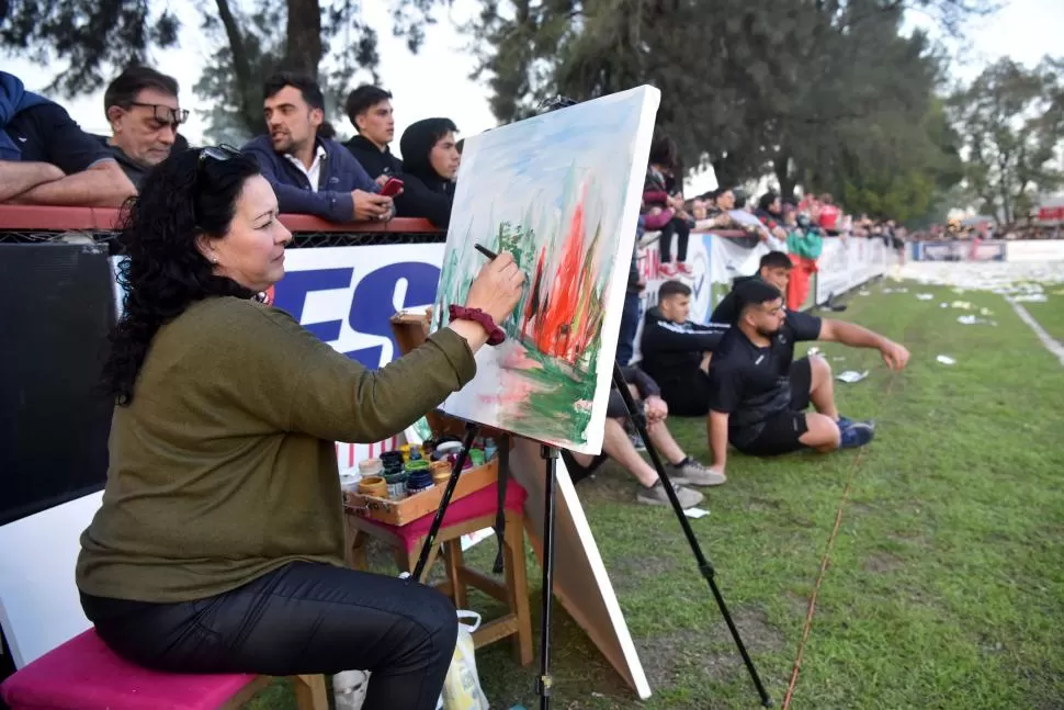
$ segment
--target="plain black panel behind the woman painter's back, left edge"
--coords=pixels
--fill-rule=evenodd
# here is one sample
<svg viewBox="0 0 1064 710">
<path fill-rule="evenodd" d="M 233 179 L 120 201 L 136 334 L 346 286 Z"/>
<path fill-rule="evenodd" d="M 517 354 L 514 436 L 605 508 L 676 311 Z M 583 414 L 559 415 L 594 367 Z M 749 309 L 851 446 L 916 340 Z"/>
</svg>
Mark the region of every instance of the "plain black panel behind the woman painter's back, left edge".
<svg viewBox="0 0 1064 710">
<path fill-rule="evenodd" d="M 114 319 L 104 247 L 0 244 L 0 526 L 103 487 Z"/>
</svg>

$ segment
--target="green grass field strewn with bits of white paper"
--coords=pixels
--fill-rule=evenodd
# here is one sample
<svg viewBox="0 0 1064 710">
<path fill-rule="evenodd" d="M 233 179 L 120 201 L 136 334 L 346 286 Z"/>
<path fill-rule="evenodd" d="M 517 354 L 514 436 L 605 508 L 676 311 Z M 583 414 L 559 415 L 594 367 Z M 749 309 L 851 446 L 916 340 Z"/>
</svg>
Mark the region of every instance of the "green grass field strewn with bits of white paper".
<svg viewBox="0 0 1064 710">
<path fill-rule="evenodd" d="M 836 392 L 844 414 L 876 420 L 876 440 L 828 457 L 732 458 L 727 485 L 708 493 L 712 514 L 692 521 L 717 583 L 780 707 L 852 480 L 791 707 L 1062 708 L 1064 372 L 1001 296 L 966 292 L 998 325 L 962 326 L 962 312 L 939 307 L 957 298 L 948 289 L 870 290 L 841 315 L 907 345 L 908 370 L 892 376 L 876 352 L 823 349 L 836 371 L 871 371 Z M 1025 305 L 1064 338 L 1064 296 Z M 701 420 L 671 427 L 705 460 Z M 634 485 L 607 467 L 578 492 L 654 696 L 637 701 L 559 611 L 554 707 L 758 707 L 671 511 L 635 505 Z M 487 571 L 494 553 L 485 542 L 473 557 Z M 377 564 L 388 570 L 383 552 Z M 509 651 L 477 655 L 491 707 L 537 707 L 536 664 L 519 668 Z M 276 685 L 250 707 L 294 706 Z"/>
</svg>

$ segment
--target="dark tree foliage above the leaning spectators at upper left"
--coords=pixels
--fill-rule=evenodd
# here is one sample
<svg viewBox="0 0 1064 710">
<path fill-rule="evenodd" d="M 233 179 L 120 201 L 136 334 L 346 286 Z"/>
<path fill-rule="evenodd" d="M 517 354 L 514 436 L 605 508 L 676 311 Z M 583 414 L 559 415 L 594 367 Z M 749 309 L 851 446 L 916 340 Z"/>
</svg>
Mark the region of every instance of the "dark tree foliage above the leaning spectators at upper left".
<svg viewBox="0 0 1064 710">
<path fill-rule="evenodd" d="M 94 91 L 122 68 L 149 63 L 152 49 L 179 43 L 181 22 L 162 1 L 8 1 L 0 13 L 5 52 L 46 66 L 65 61 L 49 89 L 67 97 Z M 411 50 L 432 22 L 435 1 L 393 0 L 393 32 Z M 362 22 L 360 0 L 203 0 L 200 10 L 201 30 L 219 40 L 195 87 L 214 104 L 206 113 L 215 134 L 261 132 L 262 81 L 275 69 L 316 76 L 335 98 L 355 70 L 372 75 L 380 63 L 376 32 Z"/>
</svg>

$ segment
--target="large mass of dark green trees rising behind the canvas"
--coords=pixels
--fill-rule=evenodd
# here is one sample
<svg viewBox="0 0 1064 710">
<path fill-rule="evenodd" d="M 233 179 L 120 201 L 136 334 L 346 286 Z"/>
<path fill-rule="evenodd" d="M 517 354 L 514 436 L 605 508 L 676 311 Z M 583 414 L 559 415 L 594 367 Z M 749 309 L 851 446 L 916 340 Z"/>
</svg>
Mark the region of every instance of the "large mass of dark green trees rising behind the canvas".
<svg viewBox="0 0 1064 710">
<path fill-rule="evenodd" d="M 907 129 L 927 113 L 939 60 L 926 36 L 901 36 L 910 9 L 955 27 L 989 4 L 494 0 L 467 30 L 500 121 L 554 93 L 582 100 L 650 83 L 686 166 L 712 165 L 722 184 L 774 172 L 786 194 L 805 177 L 834 179 L 839 136 L 859 146 L 862 126 Z"/>
</svg>

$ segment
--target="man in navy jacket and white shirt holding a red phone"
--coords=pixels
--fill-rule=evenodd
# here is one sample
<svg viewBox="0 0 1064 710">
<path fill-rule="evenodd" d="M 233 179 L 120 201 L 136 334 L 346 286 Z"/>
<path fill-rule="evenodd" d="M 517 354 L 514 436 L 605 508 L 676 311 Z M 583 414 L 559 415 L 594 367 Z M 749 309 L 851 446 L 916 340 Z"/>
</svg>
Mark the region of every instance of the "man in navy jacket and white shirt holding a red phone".
<svg viewBox="0 0 1064 710">
<path fill-rule="evenodd" d="M 267 80 L 263 93 L 270 133 L 252 138 L 244 150 L 273 185 L 281 212 L 329 222 L 395 216 L 392 196 L 381 194 L 381 185 L 359 161 L 336 140 L 318 135 L 325 100 L 316 81 L 282 72 Z"/>
</svg>

